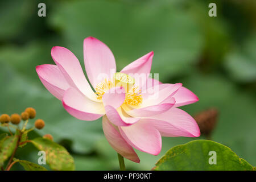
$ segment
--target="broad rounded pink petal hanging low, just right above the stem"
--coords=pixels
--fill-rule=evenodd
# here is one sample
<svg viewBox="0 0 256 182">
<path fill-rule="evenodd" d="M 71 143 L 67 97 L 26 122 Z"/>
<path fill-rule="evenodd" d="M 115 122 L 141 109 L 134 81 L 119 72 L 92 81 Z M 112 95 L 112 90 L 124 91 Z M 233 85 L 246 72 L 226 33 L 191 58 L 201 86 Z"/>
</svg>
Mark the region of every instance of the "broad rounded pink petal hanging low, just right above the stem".
<svg viewBox="0 0 256 182">
<path fill-rule="evenodd" d="M 154 126 L 147 122 L 137 122 L 131 126 L 120 126 L 122 137 L 134 148 L 148 154 L 158 155 L 162 148 L 162 138 Z"/>
</svg>

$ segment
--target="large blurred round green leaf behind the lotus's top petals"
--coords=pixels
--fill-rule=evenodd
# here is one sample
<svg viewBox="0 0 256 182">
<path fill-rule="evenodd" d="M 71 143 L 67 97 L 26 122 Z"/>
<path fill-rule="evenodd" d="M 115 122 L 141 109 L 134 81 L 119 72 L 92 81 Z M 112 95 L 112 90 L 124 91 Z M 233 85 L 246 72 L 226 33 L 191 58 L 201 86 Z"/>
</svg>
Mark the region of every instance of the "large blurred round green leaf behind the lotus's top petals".
<svg viewBox="0 0 256 182">
<path fill-rule="evenodd" d="M 81 63 L 82 41 L 94 36 L 112 49 L 118 70 L 154 51 L 152 72 L 161 73 L 160 80 L 167 81 L 188 73 L 203 46 L 199 26 L 184 12 L 168 1 L 136 6 L 112 1 L 67 1 L 57 6 L 49 22 L 63 32 L 68 48 Z"/>
</svg>

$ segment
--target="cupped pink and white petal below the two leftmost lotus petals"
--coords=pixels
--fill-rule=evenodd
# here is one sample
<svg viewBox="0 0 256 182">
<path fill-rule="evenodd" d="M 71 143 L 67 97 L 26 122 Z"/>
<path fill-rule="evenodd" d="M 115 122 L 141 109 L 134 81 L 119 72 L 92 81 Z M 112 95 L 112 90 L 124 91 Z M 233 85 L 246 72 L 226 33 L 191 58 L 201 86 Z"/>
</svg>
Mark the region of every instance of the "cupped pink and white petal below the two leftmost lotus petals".
<svg viewBox="0 0 256 182">
<path fill-rule="evenodd" d="M 89 100 L 75 88 L 65 91 L 62 102 L 69 114 L 84 121 L 93 121 L 105 114 L 102 103 Z"/>
</svg>

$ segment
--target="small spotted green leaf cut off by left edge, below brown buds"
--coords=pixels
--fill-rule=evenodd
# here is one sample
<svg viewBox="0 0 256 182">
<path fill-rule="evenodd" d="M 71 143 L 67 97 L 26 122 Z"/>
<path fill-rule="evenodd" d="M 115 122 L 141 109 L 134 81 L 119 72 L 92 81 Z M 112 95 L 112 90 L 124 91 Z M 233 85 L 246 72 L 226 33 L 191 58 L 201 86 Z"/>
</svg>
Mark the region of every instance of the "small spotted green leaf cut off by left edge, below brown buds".
<svg viewBox="0 0 256 182">
<path fill-rule="evenodd" d="M 5 160 L 7 160 L 11 154 L 13 154 L 14 148 L 18 141 L 18 136 L 5 137 L 0 146 L 0 166 L 3 166 Z"/>
</svg>

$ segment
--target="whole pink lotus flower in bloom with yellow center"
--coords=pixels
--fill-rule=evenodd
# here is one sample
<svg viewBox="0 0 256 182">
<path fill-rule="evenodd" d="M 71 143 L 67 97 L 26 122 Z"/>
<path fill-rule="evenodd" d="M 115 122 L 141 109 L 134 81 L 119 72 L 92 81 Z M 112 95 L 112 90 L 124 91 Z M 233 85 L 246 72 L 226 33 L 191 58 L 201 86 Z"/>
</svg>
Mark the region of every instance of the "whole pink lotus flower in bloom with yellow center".
<svg viewBox="0 0 256 182">
<path fill-rule="evenodd" d="M 36 72 L 73 117 L 85 121 L 103 117 L 102 127 L 110 145 L 123 157 L 139 163 L 133 147 L 158 155 L 161 136 L 200 136 L 191 115 L 177 108 L 198 101 L 195 94 L 182 84 L 162 84 L 149 77 L 139 81 L 130 76 L 148 76 L 153 55 L 154 52 L 147 53 L 115 73 L 115 59 L 108 46 L 98 39 L 86 38 L 85 70 L 95 92 L 79 60 L 67 48 L 53 47 L 51 56 L 56 65 L 38 65 Z"/>
</svg>

